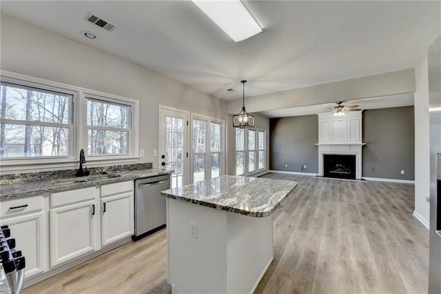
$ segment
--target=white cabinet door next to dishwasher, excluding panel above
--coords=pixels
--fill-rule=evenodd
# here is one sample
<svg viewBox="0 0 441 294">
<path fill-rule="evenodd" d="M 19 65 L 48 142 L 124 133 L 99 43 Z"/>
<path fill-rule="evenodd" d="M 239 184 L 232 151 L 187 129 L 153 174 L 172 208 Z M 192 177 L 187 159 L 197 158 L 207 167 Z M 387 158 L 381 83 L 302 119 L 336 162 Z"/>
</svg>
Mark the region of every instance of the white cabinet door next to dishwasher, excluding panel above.
<svg viewBox="0 0 441 294">
<path fill-rule="evenodd" d="M 101 199 L 101 244 L 103 246 L 134 232 L 133 192 Z"/>
</svg>

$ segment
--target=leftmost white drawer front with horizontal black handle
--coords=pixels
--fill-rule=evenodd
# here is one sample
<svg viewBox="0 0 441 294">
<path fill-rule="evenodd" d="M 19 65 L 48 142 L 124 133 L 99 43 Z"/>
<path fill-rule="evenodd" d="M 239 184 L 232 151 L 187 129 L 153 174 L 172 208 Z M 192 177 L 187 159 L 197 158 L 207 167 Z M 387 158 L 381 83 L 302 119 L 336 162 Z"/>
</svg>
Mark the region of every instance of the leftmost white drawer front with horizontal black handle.
<svg viewBox="0 0 441 294">
<path fill-rule="evenodd" d="M 43 210 L 43 195 L 5 200 L 0 206 L 1 218 Z"/>
</svg>

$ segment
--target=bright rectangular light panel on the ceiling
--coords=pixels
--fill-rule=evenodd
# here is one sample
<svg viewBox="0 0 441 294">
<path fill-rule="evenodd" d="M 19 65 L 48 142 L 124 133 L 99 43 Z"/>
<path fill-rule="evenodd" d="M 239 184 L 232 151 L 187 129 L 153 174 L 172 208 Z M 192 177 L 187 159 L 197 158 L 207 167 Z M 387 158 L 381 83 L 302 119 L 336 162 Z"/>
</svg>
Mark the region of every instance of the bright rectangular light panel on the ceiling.
<svg viewBox="0 0 441 294">
<path fill-rule="evenodd" d="M 239 0 L 192 0 L 192 2 L 235 42 L 243 41 L 262 32 L 260 26 Z"/>
</svg>

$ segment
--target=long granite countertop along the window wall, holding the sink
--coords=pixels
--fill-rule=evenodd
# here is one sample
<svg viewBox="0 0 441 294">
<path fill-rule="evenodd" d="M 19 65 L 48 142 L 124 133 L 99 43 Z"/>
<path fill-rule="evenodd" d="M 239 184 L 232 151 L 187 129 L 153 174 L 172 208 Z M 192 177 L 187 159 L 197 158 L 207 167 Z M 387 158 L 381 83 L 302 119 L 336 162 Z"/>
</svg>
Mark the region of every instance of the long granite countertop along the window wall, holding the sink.
<svg viewBox="0 0 441 294">
<path fill-rule="evenodd" d="M 74 190 L 168 174 L 170 174 L 170 171 L 168 170 L 147 168 L 143 170 L 123 171 L 121 173 L 113 173 L 110 175 L 91 175 L 88 177 L 69 177 L 65 179 L 6 184 L 0 185 L 0 200 L 29 197 L 41 195 L 43 193 L 61 192 L 65 190 Z"/>
</svg>

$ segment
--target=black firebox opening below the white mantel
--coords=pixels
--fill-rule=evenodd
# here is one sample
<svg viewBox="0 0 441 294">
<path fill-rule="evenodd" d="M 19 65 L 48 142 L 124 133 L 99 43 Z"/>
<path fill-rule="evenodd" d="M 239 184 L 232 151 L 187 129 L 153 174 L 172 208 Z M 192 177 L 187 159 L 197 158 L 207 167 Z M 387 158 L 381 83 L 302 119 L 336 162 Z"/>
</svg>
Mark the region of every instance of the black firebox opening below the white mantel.
<svg viewBox="0 0 441 294">
<path fill-rule="evenodd" d="M 323 155 L 323 175 L 338 179 L 356 179 L 356 155 Z"/>
</svg>

